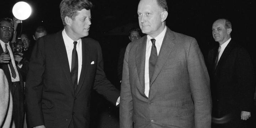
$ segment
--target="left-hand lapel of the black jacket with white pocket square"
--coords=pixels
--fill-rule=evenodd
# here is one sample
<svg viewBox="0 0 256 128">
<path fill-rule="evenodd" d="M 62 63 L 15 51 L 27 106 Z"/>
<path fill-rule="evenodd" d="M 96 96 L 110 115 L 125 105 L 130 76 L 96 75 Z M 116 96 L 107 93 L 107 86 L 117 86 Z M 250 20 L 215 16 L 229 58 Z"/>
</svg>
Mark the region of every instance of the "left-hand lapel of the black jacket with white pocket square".
<svg viewBox="0 0 256 128">
<path fill-rule="evenodd" d="M 66 80 L 68 80 L 67 84 L 70 86 L 72 94 L 74 94 L 74 85 L 71 79 L 68 55 L 66 53 L 66 47 L 62 36 L 62 31 L 57 33 L 54 44 L 56 54 L 58 55 L 58 59 L 60 62 L 59 64 L 63 68 L 64 74 L 66 75 Z"/>
</svg>

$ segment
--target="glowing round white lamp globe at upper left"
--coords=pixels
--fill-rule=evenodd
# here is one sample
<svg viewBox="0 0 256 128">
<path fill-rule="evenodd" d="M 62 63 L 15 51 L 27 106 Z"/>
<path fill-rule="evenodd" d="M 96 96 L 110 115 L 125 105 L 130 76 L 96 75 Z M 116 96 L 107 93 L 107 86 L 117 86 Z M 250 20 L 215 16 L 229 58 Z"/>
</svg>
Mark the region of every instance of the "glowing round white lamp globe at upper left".
<svg viewBox="0 0 256 128">
<path fill-rule="evenodd" d="M 31 7 L 28 3 L 20 1 L 12 8 L 12 14 L 18 20 L 26 20 L 31 15 Z"/>
</svg>

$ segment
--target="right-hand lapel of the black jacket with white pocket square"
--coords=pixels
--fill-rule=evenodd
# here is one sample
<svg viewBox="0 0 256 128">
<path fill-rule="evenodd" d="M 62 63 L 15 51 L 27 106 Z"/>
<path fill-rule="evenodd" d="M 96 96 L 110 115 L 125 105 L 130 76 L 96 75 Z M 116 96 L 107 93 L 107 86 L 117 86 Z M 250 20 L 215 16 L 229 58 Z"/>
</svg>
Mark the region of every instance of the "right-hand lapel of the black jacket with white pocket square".
<svg viewBox="0 0 256 128">
<path fill-rule="evenodd" d="M 89 64 L 89 57 L 90 57 L 90 50 L 88 47 L 88 43 L 86 42 L 86 38 L 81 40 L 82 42 L 82 69 L 81 69 L 81 74 L 80 74 L 80 78 L 78 81 L 78 88 L 76 90 L 76 95 L 78 94 L 79 90 L 82 87 L 82 84 L 85 80 L 85 75 L 86 75 L 86 71 L 87 71 L 87 67 Z"/>
</svg>

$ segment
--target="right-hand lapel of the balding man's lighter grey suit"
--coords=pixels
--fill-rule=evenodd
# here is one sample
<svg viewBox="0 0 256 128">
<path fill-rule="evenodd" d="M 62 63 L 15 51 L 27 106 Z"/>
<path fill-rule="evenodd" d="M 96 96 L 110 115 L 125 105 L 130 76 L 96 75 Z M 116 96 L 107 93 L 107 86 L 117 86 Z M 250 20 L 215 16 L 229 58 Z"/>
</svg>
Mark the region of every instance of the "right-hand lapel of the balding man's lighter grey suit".
<svg viewBox="0 0 256 128">
<path fill-rule="evenodd" d="M 154 73 L 149 84 L 150 88 L 157 76 L 159 75 L 167 58 L 169 58 L 172 49 L 174 48 L 174 43 L 172 42 L 173 39 L 175 39 L 174 33 L 167 27 L 165 37 L 162 41 L 162 46 L 158 55 L 158 60 L 156 61 L 156 65 L 154 68 Z"/>
</svg>

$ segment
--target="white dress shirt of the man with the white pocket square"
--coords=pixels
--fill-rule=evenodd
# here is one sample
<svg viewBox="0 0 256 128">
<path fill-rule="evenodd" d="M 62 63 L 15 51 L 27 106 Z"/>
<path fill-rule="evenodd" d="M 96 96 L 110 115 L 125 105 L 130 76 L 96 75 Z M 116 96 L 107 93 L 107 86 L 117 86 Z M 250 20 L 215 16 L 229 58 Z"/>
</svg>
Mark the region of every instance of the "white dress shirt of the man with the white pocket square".
<svg viewBox="0 0 256 128">
<path fill-rule="evenodd" d="M 74 48 L 74 41 L 66 34 L 65 29 L 62 31 L 62 36 L 64 40 L 64 44 L 66 47 L 66 52 L 68 55 L 68 61 L 69 61 L 69 71 L 71 72 L 71 63 L 72 63 L 72 51 Z M 76 44 L 76 51 L 78 53 L 78 81 L 80 78 L 81 74 L 81 69 L 82 69 L 82 41 L 81 38 L 77 41 L 78 43 Z"/>
</svg>

